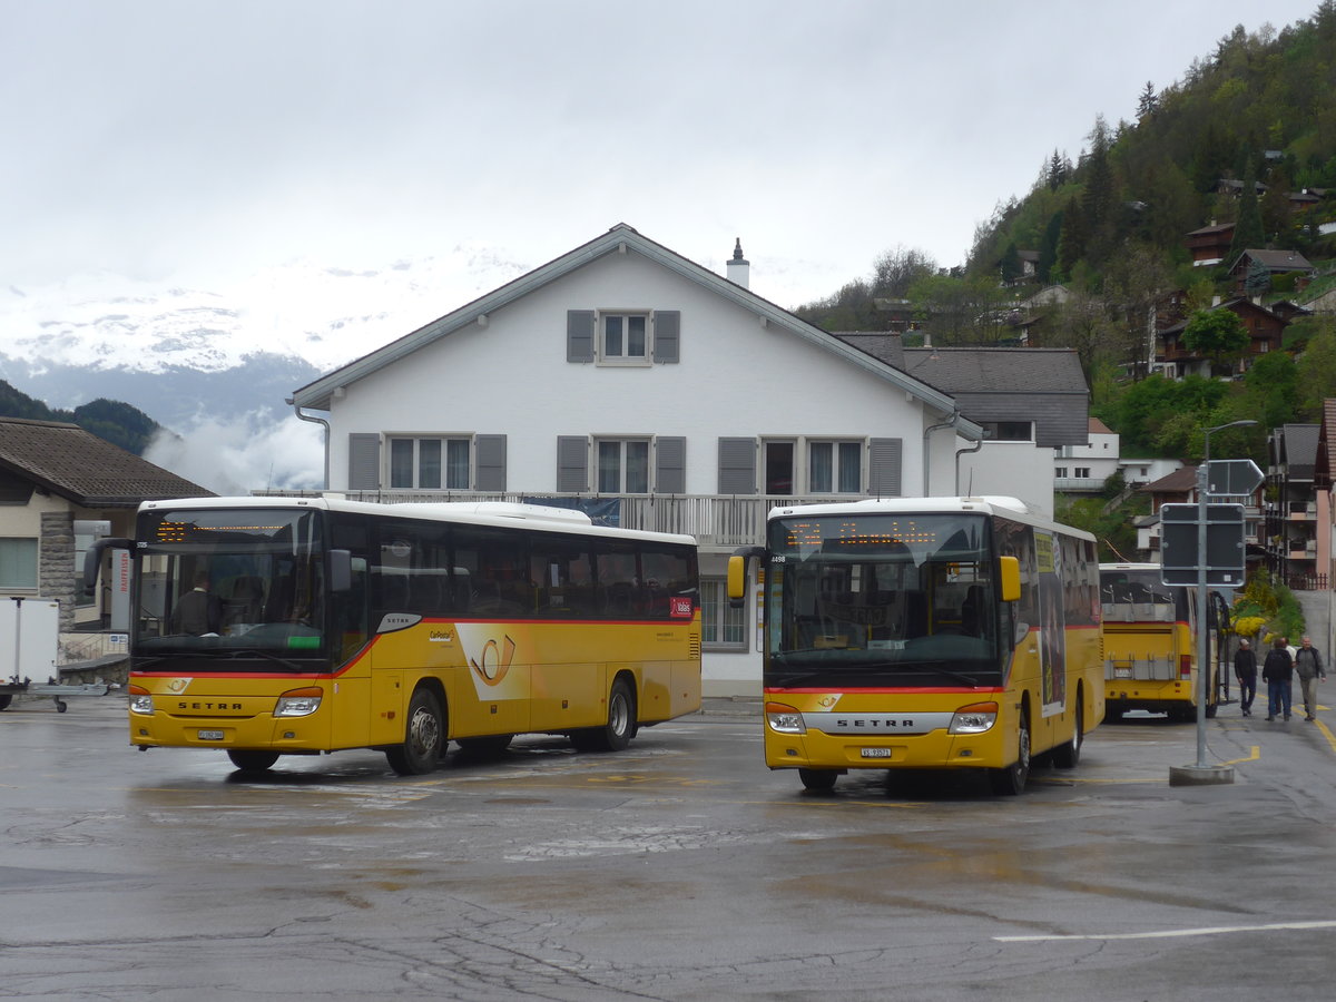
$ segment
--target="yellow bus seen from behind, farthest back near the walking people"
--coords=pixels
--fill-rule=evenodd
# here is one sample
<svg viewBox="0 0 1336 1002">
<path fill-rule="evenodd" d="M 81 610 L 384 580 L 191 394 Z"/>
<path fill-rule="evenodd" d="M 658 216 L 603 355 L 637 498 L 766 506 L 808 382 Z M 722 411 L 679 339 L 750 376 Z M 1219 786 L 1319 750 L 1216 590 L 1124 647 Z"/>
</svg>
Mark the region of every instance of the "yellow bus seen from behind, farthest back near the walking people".
<svg viewBox="0 0 1336 1002">
<path fill-rule="evenodd" d="M 1129 709 L 1145 709 L 1166 713 L 1172 720 L 1196 720 L 1201 699 L 1197 631 L 1202 624 L 1197 589 L 1166 585 L 1158 564 L 1101 564 L 1100 601 L 1105 719 L 1120 720 Z M 1205 629 L 1210 676 L 1204 709 L 1208 717 L 1216 715 L 1220 687 L 1228 679 L 1221 664 L 1228 625 L 1229 607 L 1218 592 L 1209 592 Z"/>
</svg>

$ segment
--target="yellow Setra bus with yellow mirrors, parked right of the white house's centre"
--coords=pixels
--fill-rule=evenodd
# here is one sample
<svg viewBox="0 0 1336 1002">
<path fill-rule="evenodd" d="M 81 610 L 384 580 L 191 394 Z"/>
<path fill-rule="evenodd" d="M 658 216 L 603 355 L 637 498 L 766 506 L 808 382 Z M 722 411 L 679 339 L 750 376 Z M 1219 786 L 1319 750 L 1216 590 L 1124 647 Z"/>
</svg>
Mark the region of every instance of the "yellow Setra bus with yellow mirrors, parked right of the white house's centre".
<svg viewBox="0 0 1336 1002">
<path fill-rule="evenodd" d="M 830 790 L 848 770 L 1075 766 L 1104 717 L 1094 537 L 1014 498 L 772 509 L 759 557 L 766 764 Z"/>
</svg>

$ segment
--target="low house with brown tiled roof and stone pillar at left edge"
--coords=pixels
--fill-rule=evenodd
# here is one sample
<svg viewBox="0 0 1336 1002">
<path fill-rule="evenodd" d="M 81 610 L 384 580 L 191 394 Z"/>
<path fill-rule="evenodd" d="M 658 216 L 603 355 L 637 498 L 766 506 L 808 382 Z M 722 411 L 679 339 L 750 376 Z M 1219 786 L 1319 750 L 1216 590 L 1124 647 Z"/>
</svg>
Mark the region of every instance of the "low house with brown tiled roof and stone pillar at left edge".
<svg viewBox="0 0 1336 1002">
<path fill-rule="evenodd" d="M 210 493 L 77 425 L 0 418 L 0 597 L 59 601 L 68 647 L 111 608 L 83 595 L 91 542 L 134 534 L 140 501 Z"/>
</svg>

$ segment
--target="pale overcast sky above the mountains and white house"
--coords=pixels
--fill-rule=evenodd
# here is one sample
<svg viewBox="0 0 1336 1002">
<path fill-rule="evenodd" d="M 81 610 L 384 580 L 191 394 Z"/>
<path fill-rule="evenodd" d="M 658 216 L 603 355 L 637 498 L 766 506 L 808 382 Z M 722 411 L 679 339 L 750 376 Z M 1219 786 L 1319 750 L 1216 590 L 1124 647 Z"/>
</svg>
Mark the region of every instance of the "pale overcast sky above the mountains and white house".
<svg viewBox="0 0 1336 1002">
<path fill-rule="evenodd" d="M 0 0 L 0 269 L 223 285 L 617 222 L 798 306 L 963 261 L 1097 114 L 1317 0 Z M 442 303 L 446 313 L 461 303 Z"/>
</svg>

